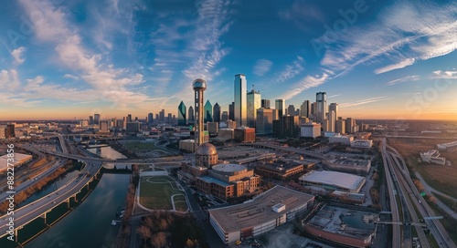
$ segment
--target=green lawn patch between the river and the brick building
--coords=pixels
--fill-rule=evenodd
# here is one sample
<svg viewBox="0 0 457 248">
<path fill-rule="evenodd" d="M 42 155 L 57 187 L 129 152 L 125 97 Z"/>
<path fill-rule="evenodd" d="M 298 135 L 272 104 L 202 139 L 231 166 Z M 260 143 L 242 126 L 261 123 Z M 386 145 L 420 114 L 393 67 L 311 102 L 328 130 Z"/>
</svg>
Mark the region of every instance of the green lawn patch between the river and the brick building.
<svg viewBox="0 0 457 248">
<path fill-rule="evenodd" d="M 152 183 L 147 179 L 159 183 Z M 140 204 L 151 210 L 173 210 L 171 196 L 184 192 L 173 189 L 168 181 L 172 180 L 168 177 L 142 178 L 140 182 Z M 176 199 L 181 198 L 176 196 Z"/>
</svg>

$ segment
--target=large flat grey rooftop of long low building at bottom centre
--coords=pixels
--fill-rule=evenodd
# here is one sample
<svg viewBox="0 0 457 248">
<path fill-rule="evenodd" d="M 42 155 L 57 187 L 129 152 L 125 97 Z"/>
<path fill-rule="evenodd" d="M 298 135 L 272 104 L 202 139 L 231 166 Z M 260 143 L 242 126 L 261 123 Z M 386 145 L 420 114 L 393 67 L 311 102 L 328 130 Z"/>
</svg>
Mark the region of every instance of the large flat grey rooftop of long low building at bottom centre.
<svg viewBox="0 0 457 248">
<path fill-rule="evenodd" d="M 278 185 L 263 192 L 250 202 L 213 209 L 208 212 L 225 232 L 232 233 L 280 217 L 284 212 L 274 212 L 272 209 L 278 203 L 285 205 L 285 212 L 289 212 L 313 199 L 313 195 Z"/>
</svg>

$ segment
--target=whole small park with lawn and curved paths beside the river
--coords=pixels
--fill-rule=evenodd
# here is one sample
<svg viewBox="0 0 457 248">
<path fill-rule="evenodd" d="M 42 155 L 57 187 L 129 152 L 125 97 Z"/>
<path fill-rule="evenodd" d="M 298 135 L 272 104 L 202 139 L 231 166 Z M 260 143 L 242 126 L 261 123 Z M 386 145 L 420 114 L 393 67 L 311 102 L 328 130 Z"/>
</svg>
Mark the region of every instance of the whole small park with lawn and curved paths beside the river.
<svg viewBox="0 0 457 248">
<path fill-rule="evenodd" d="M 186 212 L 184 191 L 166 176 L 146 176 L 140 180 L 140 204 L 149 210 Z"/>
</svg>

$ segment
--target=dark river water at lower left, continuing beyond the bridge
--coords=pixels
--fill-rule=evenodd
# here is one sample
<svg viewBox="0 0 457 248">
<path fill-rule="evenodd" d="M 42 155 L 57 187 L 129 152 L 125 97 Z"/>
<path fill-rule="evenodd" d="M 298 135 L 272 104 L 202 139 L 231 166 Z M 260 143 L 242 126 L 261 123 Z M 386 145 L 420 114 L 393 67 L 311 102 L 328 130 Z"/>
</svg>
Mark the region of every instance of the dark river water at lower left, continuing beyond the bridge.
<svg viewBox="0 0 457 248">
<path fill-rule="evenodd" d="M 112 148 L 104 149 L 109 150 L 110 154 L 115 154 Z M 111 222 L 116 217 L 118 206 L 125 203 L 130 176 L 104 173 L 96 189 L 84 202 L 48 231 L 27 243 L 26 247 L 112 247 L 120 225 L 112 226 Z"/>
</svg>

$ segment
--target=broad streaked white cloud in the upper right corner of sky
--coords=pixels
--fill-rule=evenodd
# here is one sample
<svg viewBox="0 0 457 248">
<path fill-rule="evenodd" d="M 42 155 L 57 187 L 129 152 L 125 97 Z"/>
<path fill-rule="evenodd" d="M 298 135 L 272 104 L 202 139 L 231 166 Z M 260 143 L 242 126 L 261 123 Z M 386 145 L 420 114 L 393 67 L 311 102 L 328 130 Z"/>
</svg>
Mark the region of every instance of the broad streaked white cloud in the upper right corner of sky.
<svg viewBox="0 0 457 248">
<path fill-rule="evenodd" d="M 321 63 L 342 75 L 377 58 L 390 64 L 374 70 L 381 74 L 449 54 L 457 48 L 456 12 L 455 2 L 440 6 L 431 1 L 420 5 L 395 2 L 372 24 L 350 26 L 345 33 L 335 33 L 333 42 L 325 42 L 324 36 L 318 38 L 316 41 L 327 47 Z"/>
</svg>

